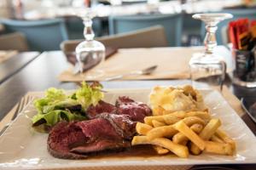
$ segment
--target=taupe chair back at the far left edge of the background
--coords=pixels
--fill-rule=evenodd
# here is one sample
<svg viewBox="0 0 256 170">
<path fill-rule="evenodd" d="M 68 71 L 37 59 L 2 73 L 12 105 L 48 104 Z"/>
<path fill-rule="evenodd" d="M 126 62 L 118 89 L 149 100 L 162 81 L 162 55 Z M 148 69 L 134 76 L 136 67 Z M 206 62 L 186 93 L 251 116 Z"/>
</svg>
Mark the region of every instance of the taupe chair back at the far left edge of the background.
<svg viewBox="0 0 256 170">
<path fill-rule="evenodd" d="M 0 35 L 0 50 L 28 51 L 25 35 L 20 32 Z"/>
</svg>

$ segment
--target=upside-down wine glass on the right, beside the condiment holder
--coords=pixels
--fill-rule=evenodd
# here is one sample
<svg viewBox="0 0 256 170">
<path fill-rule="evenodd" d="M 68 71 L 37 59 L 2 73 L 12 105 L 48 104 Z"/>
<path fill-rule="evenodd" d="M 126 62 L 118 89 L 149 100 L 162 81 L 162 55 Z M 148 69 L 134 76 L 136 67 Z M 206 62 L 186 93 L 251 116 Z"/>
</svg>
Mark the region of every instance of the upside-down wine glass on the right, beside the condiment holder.
<svg viewBox="0 0 256 170">
<path fill-rule="evenodd" d="M 222 89 L 226 63 L 224 58 L 213 53 L 213 48 L 217 46 L 215 32 L 218 22 L 233 17 L 232 14 L 212 13 L 212 14 L 194 14 L 196 20 L 202 20 L 206 23 L 207 35 L 204 40 L 205 52 L 193 54 L 189 60 L 190 78 L 193 86 L 199 86 L 200 82 L 207 82 L 219 90 Z"/>
</svg>

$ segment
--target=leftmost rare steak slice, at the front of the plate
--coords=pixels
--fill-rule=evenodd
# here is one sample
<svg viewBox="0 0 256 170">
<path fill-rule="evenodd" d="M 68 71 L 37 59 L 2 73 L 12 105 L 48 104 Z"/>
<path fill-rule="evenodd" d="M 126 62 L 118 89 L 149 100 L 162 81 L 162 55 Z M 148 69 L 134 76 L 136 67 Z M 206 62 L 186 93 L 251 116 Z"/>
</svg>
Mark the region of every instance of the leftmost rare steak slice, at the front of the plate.
<svg viewBox="0 0 256 170">
<path fill-rule="evenodd" d="M 49 132 L 47 141 L 49 153 L 63 159 L 84 159 L 86 156 L 70 152 L 70 144 L 86 141 L 82 130 L 75 122 L 59 122 Z"/>
</svg>

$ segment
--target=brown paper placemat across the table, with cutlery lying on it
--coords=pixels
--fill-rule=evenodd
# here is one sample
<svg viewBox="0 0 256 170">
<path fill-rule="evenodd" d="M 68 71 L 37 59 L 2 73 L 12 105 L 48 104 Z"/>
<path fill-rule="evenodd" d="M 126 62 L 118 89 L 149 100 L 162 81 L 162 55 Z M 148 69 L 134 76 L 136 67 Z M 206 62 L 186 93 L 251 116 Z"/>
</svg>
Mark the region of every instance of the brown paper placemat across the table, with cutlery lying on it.
<svg viewBox="0 0 256 170">
<path fill-rule="evenodd" d="M 61 72 L 58 77 L 61 82 L 81 82 L 86 75 L 96 69 L 102 69 L 105 75 L 90 80 L 104 80 L 119 74 L 143 70 L 152 65 L 158 65 L 150 75 L 124 77 L 124 80 L 150 80 L 150 79 L 185 79 L 189 78 L 189 59 L 192 54 L 201 52 L 203 48 L 131 48 L 119 49 L 118 53 L 106 60 L 102 65 L 96 66 L 83 74 L 73 74 L 73 67 Z"/>
</svg>

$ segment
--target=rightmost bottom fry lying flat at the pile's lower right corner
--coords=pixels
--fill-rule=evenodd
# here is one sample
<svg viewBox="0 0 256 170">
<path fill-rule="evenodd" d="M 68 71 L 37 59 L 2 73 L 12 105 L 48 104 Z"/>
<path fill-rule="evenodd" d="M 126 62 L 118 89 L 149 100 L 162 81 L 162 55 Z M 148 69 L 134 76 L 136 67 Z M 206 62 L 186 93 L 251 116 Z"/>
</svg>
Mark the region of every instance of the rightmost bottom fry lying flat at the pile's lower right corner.
<svg viewBox="0 0 256 170">
<path fill-rule="evenodd" d="M 220 154 L 220 155 L 233 155 L 233 149 L 231 144 L 221 144 L 218 142 L 206 141 L 206 148 L 205 151 L 208 153 L 213 154 Z"/>
</svg>

